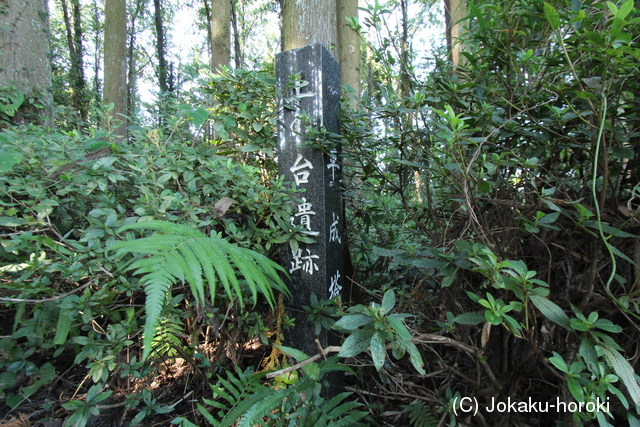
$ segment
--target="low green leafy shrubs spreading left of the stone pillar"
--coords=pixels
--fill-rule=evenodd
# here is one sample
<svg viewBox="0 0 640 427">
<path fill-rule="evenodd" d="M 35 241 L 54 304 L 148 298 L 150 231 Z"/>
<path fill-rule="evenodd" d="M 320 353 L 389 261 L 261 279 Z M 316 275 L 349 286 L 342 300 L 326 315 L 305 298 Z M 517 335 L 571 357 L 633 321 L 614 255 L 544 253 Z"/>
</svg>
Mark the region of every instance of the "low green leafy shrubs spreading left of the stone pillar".
<svg viewBox="0 0 640 427">
<path fill-rule="evenodd" d="M 268 257 L 296 236 L 297 231 L 281 228 L 291 215 L 291 189 L 263 179 L 257 168 L 216 156 L 211 145 L 189 147 L 171 140 L 156 145 L 144 132 L 132 133 L 139 139 L 130 146 L 110 146 L 100 131 L 86 137 L 39 127 L 0 133 L 3 152 L 14 153 L 0 174 L 0 298 L 5 307 L 2 335 L 14 340 L 15 356 L 3 356 L 0 376 L 13 383 L 18 363 L 32 367 L 11 386 L 3 382 L 3 400 L 16 409 L 25 403 L 20 396 L 33 399 L 44 393 L 43 384 L 66 370 L 67 362 L 87 375 L 72 393 L 91 388 L 92 382 L 96 390 L 123 387 L 121 376 L 127 379 L 125 388 L 131 381 L 147 382 L 157 367 L 141 364 L 142 353 L 146 357 L 154 349 L 160 359 L 198 354 L 200 341 L 188 339 L 189 334 L 197 338 L 198 328 L 224 323 L 225 310 L 227 315 L 242 314 L 247 304 L 273 304 L 273 292 L 285 291 L 276 274 L 279 268 Z M 107 151 L 102 157 L 87 157 L 96 147 Z M 221 200 L 231 203 L 218 208 Z M 174 265 L 170 271 L 176 275 L 161 277 L 164 282 L 155 282 L 155 288 L 147 286 L 144 274 L 131 274 L 149 258 L 109 252 L 119 242 L 122 250 L 135 253 L 136 241 L 122 241 L 120 230 L 145 224 L 162 224 L 166 233 L 150 235 L 150 228 L 140 241 L 165 239 L 155 256 L 162 257 L 166 249 L 163 259 L 179 266 L 167 264 Z M 126 238 L 131 239 L 131 233 Z M 180 249 L 172 252 L 166 239 Z M 194 245 L 198 252 L 183 259 L 187 267 L 181 271 L 175 256 Z M 222 270 L 212 269 L 210 259 L 202 262 L 202 250 L 207 256 L 219 253 L 218 262 L 228 258 L 226 264 L 217 264 Z M 191 270 L 197 268 L 194 259 L 203 268 L 197 283 L 190 282 L 197 276 Z M 127 270 L 132 265 L 134 269 Z M 155 270 L 162 271 L 158 266 Z M 195 293 L 187 299 L 208 301 L 210 315 L 196 321 L 200 308 L 172 298 L 180 293 L 183 280 L 194 285 Z M 156 290 L 151 292 L 154 304 L 147 301 L 149 311 L 143 305 L 145 287 Z M 213 307 L 211 292 L 217 294 Z M 256 310 L 266 310 L 266 304 Z M 264 332 L 263 320 L 246 317 L 234 329 L 234 339 Z M 154 322 L 160 325 L 158 340 L 149 345 L 154 328 L 147 326 L 144 352 L 139 352 L 143 326 Z M 56 359 L 50 363 L 52 356 Z M 208 367 L 202 358 L 187 360 L 193 369 L 214 369 L 208 360 Z M 95 402 L 78 403 L 82 399 L 68 402 L 77 420 L 96 411 Z"/>
</svg>

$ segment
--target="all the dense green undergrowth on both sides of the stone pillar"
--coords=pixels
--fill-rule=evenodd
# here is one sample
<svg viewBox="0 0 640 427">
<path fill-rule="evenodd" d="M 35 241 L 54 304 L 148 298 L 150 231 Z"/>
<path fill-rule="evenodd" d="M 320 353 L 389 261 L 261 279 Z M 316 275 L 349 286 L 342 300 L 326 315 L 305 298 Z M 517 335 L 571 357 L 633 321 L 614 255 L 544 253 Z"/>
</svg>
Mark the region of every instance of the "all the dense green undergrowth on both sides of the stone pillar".
<svg viewBox="0 0 640 427">
<path fill-rule="evenodd" d="M 633 1 L 470 1 L 463 62 L 424 77 L 370 37 L 390 10 L 363 12 L 366 93 L 342 115 L 352 301 L 303 302 L 345 334 L 337 356 L 283 342 L 300 319 L 273 260 L 309 237 L 276 175 L 273 66 L 203 75 L 123 144 L 14 126 L 24 99 L 2 92 L 14 423 L 638 424 Z M 347 391 L 327 396 L 336 371 Z M 556 398 L 581 409 L 486 410 Z"/>
</svg>

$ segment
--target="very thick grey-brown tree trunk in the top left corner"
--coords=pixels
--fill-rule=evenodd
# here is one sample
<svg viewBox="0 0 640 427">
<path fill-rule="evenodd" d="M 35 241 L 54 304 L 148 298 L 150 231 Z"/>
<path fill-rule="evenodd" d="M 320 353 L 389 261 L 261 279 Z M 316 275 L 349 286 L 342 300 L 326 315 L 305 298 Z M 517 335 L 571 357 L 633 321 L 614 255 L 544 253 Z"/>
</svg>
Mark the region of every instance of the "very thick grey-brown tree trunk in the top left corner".
<svg viewBox="0 0 640 427">
<path fill-rule="evenodd" d="M 44 105 L 40 111 L 23 105 L 14 115 L 17 123 L 53 124 L 51 49 L 47 0 L 0 2 L 0 86 L 13 86 L 25 98 Z"/>
</svg>

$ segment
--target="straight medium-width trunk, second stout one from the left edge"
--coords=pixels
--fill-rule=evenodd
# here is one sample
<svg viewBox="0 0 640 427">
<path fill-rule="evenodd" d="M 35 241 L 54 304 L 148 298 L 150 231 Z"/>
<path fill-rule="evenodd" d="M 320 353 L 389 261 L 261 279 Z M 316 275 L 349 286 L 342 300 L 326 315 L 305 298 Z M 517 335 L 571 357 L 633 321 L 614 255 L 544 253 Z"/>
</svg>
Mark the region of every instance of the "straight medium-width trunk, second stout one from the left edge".
<svg viewBox="0 0 640 427">
<path fill-rule="evenodd" d="M 127 136 L 127 6 L 125 0 L 104 4 L 104 103 L 113 103 L 108 128 L 118 142 Z"/>
</svg>

